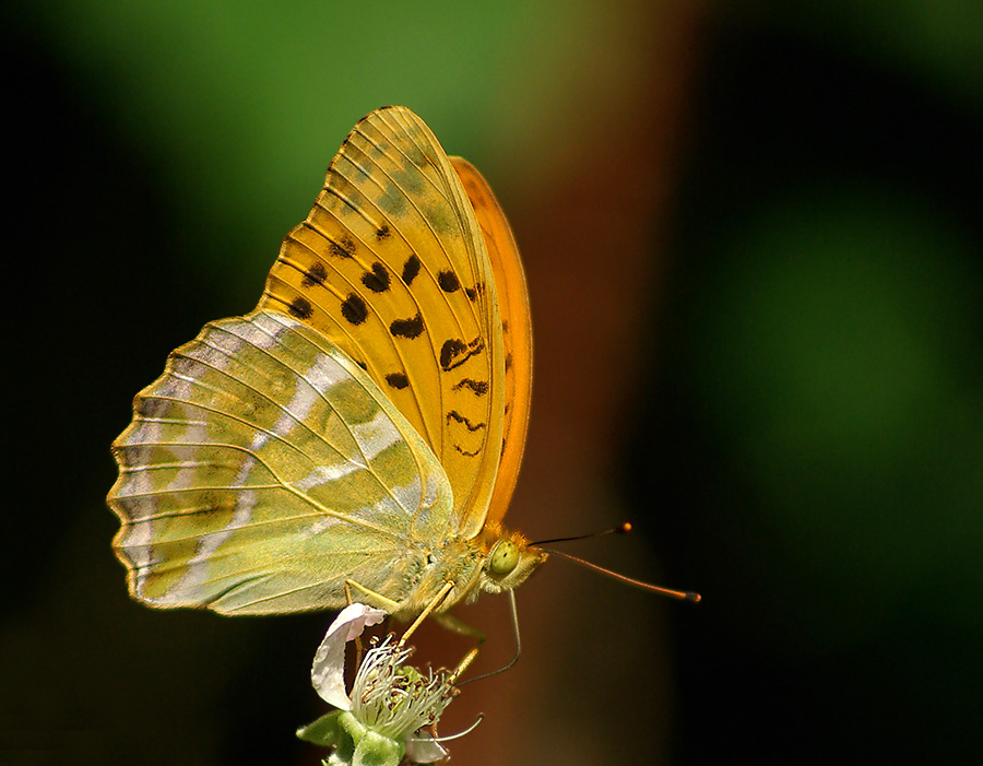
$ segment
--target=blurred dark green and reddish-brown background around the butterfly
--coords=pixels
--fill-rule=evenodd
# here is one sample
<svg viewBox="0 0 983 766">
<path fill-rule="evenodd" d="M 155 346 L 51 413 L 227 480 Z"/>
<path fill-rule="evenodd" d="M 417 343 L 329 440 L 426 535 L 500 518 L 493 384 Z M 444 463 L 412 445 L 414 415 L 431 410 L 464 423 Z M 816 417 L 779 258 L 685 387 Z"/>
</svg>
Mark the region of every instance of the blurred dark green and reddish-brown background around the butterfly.
<svg viewBox="0 0 983 766">
<path fill-rule="evenodd" d="M 0 762 L 317 764 L 327 615 L 129 601 L 108 445 L 365 113 L 496 189 L 550 562 L 467 764 L 983 763 L 983 5 L 8 2 Z M 464 616 L 509 657 L 486 597 Z M 418 659 L 460 656 L 426 632 Z"/>
</svg>

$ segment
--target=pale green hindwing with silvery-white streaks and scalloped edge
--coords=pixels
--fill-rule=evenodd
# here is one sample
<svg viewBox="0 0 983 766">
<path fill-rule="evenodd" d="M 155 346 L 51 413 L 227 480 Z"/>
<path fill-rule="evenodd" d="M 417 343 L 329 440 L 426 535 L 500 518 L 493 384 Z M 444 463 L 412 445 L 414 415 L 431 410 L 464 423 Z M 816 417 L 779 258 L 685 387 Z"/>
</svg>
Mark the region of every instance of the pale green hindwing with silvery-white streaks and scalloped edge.
<svg viewBox="0 0 983 766">
<path fill-rule="evenodd" d="M 155 606 L 259 614 L 400 601 L 453 528 L 436 456 L 371 379 L 291 317 L 208 325 L 114 443 L 114 545 Z"/>
</svg>

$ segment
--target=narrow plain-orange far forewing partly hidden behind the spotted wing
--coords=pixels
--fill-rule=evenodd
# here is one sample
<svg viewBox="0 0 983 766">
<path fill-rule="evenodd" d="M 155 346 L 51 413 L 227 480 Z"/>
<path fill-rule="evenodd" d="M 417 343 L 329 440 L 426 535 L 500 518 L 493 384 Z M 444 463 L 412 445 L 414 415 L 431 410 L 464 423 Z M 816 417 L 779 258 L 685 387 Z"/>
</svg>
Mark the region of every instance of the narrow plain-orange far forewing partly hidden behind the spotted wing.
<svg viewBox="0 0 983 766">
<path fill-rule="evenodd" d="M 501 521 L 519 479 L 532 399 L 532 318 L 525 270 L 522 268 L 519 247 L 516 245 L 505 212 L 495 199 L 488 181 L 474 165 L 462 157 L 450 157 L 450 161 L 474 208 L 492 262 L 501 314 L 505 353 L 506 405 L 501 461 L 487 516 L 484 518 L 469 516 L 472 531 L 477 532 L 486 521 Z M 467 531 L 464 534 L 470 537 Z"/>
</svg>

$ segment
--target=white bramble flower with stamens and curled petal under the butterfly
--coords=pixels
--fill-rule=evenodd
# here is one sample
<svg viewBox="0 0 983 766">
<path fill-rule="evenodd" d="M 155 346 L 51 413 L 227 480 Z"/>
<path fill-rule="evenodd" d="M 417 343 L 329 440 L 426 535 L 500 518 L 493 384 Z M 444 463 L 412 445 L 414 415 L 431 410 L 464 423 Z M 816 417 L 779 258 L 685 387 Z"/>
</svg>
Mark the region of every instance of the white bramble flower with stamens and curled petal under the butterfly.
<svg viewBox="0 0 983 766">
<path fill-rule="evenodd" d="M 449 673 L 428 670 L 424 675 L 404 664 L 413 649 L 401 647 L 391 635 L 374 641 L 355 675 L 352 696 L 345 693 L 345 644 L 384 616 L 365 604 L 346 606 L 315 656 L 313 686 L 339 710 L 299 729 L 297 735 L 332 746 L 331 766 L 396 766 L 404 754 L 414 763 L 433 763 L 447 755 L 433 736 L 419 730 L 436 723 L 455 694 Z"/>
</svg>

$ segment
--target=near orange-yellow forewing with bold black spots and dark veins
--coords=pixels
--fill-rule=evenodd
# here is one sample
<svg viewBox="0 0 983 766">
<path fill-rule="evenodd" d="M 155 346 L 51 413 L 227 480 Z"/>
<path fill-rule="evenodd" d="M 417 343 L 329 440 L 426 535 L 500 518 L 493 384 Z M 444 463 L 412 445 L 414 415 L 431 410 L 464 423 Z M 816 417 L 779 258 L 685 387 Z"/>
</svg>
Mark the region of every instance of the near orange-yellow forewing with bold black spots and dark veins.
<svg viewBox="0 0 983 766">
<path fill-rule="evenodd" d="M 505 342 L 475 212 L 423 120 L 386 107 L 355 126 L 260 307 L 366 369 L 443 466 L 460 531 L 476 534 L 501 456 Z"/>
</svg>

